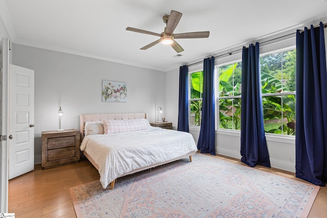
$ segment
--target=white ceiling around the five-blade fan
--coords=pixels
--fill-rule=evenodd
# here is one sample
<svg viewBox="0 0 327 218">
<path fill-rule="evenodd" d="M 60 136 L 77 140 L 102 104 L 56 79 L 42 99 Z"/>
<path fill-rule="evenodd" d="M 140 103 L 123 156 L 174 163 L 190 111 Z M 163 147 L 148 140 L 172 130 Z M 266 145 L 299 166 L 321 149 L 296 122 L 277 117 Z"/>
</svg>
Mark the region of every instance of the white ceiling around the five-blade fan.
<svg viewBox="0 0 327 218">
<path fill-rule="evenodd" d="M 327 0 L 0 1 L 0 15 L 14 43 L 160 71 L 327 16 Z M 169 45 L 139 50 L 158 37 L 125 29 L 160 34 L 166 26 L 162 16 L 171 10 L 183 14 L 175 34 L 210 31 L 209 38 L 176 39 L 184 49 L 178 58 Z"/>
</svg>

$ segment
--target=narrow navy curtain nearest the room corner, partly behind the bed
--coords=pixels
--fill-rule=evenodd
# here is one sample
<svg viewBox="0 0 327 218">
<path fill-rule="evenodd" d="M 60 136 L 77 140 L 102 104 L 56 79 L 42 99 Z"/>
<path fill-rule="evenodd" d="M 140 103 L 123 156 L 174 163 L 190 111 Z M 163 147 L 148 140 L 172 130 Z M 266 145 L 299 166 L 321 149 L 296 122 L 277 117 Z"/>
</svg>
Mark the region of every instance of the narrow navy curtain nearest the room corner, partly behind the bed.
<svg viewBox="0 0 327 218">
<path fill-rule="evenodd" d="M 177 130 L 189 132 L 189 68 L 187 65 L 179 67 L 179 100 Z"/>
</svg>

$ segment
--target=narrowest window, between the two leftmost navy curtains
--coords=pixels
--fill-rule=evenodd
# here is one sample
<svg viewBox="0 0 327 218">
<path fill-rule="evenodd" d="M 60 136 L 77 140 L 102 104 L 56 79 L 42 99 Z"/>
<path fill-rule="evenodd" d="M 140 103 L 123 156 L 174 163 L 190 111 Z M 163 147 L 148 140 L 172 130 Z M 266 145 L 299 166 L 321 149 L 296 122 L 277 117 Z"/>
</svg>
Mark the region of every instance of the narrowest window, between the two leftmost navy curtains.
<svg viewBox="0 0 327 218">
<path fill-rule="evenodd" d="M 203 71 L 192 72 L 190 78 L 190 126 L 201 126 Z"/>
</svg>

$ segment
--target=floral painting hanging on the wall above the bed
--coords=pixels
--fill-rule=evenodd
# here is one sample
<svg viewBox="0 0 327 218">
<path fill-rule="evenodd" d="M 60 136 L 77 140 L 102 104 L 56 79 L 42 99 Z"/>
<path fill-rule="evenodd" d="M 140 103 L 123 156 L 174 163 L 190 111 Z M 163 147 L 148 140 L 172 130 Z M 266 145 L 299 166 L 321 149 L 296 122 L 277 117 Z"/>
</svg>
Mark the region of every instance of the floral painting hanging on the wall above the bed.
<svg viewBox="0 0 327 218">
<path fill-rule="evenodd" d="M 102 80 L 103 102 L 127 102 L 127 83 Z"/>
</svg>

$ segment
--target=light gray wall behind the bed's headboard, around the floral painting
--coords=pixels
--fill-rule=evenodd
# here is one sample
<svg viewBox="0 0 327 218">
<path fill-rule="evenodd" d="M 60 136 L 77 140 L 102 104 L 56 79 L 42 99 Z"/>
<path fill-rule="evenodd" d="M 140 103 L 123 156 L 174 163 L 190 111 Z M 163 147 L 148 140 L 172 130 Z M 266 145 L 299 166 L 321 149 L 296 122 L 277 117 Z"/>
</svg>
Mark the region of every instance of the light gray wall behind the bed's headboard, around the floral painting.
<svg viewBox="0 0 327 218">
<path fill-rule="evenodd" d="M 130 65 L 13 44 L 13 64 L 35 74 L 35 162 L 41 161 L 41 132 L 79 129 L 79 114 L 146 112 L 155 122 L 165 108 L 165 73 Z M 127 103 L 102 102 L 102 80 L 127 82 Z M 164 114 L 165 116 L 165 110 Z"/>
</svg>

